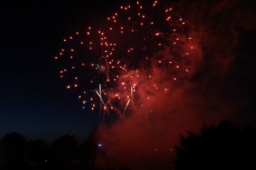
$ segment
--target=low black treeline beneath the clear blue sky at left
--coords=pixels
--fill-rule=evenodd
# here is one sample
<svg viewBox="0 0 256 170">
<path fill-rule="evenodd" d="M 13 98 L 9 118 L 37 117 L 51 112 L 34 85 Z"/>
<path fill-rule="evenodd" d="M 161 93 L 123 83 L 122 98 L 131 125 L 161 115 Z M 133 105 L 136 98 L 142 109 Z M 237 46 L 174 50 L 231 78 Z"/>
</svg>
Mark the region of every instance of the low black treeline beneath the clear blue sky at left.
<svg viewBox="0 0 256 170">
<path fill-rule="evenodd" d="M 15 132 L 9 133 L 9 135 L 12 134 L 15 134 Z M 1 141 L 1 144 L 2 143 L 3 142 Z M 5 155 L 8 155 L 9 152 L 17 152 L 18 155 L 20 154 L 20 149 L 15 149 L 13 146 L 14 142 L 4 141 L 4 143 L 8 143 L 10 145 L 8 147 L 11 148 L 6 151 L 7 154 Z M 79 144 L 78 139 L 76 139 L 75 136 L 69 134 L 62 135 L 60 138 L 53 140 L 50 144 L 46 144 L 42 139 L 26 140 L 26 162 L 36 170 L 97 169 L 94 161 L 96 160 L 96 155 L 99 154 L 99 151 L 99 146 L 94 133 L 91 133 L 89 138 L 82 141 L 81 144 Z M 3 146 L 0 152 L 2 157 L 0 161 L 3 161 Z"/>
</svg>

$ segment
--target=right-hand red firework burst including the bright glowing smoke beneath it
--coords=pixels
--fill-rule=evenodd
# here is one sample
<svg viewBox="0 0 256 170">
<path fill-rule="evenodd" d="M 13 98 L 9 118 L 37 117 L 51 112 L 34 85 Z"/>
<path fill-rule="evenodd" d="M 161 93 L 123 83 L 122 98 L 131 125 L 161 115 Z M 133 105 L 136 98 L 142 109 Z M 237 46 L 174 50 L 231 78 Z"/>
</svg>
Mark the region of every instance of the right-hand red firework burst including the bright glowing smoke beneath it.
<svg viewBox="0 0 256 170">
<path fill-rule="evenodd" d="M 108 27 L 108 37 L 117 42 L 115 57 L 121 57 L 127 69 L 119 76 L 115 89 L 123 99 L 119 105 L 125 110 L 129 99 L 135 99 L 137 106 L 143 105 L 155 93 L 170 90 L 163 81 L 180 83 L 189 76 L 195 48 L 189 37 L 190 27 L 171 7 L 157 1 L 137 1 L 120 5 L 107 20 L 104 26 Z M 136 93 L 139 88 L 143 93 Z"/>
</svg>

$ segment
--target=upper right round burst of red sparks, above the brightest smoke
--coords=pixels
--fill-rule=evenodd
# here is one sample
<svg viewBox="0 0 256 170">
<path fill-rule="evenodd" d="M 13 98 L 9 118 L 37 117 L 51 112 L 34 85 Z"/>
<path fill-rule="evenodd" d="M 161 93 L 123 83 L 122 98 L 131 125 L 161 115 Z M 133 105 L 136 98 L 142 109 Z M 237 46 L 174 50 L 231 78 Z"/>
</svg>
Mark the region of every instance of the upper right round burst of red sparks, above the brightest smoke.
<svg viewBox="0 0 256 170">
<path fill-rule="evenodd" d="M 117 42 L 117 54 L 125 59 L 128 69 L 150 67 L 152 62 L 179 68 L 184 55 L 189 55 L 189 26 L 172 8 L 162 7 L 157 1 L 121 5 L 107 19 L 108 35 Z M 166 50 L 168 56 L 160 54 Z"/>
</svg>

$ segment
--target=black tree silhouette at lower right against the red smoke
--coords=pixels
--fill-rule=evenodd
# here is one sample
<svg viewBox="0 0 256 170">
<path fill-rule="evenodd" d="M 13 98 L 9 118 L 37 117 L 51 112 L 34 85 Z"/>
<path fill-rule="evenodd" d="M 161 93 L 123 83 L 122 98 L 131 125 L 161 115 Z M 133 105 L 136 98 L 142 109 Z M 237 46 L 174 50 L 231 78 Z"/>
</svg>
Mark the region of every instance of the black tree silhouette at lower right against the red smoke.
<svg viewBox="0 0 256 170">
<path fill-rule="evenodd" d="M 217 126 L 204 124 L 199 133 L 180 137 L 173 161 L 183 169 L 256 169 L 256 133 L 253 127 L 241 129 L 224 120 Z"/>
</svg>

